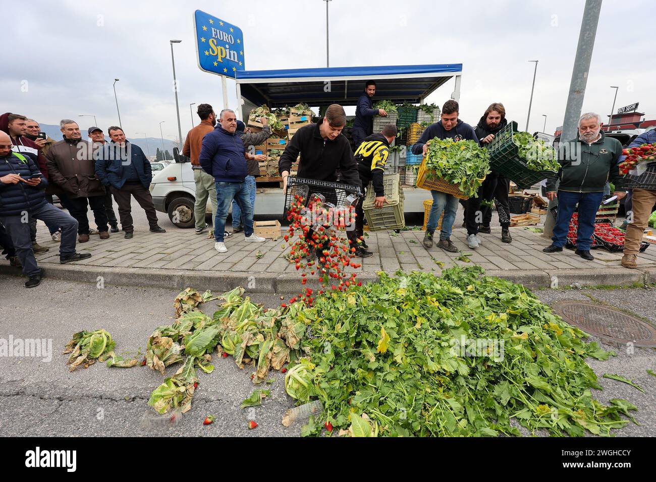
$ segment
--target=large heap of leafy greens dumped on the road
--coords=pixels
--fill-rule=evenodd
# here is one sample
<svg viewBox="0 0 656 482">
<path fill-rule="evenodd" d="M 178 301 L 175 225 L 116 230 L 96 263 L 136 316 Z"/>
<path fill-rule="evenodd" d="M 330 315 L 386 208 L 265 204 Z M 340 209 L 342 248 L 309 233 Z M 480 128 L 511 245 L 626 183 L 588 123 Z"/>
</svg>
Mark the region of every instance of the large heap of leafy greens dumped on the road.
<svg viewBox="0 0 656 482">
<path fill-rule="evenodd" d="M 522 286 L 482 272 L 380 273 L 318 296 L 298 312 L 316 338 L 287 372 L 287 393 L 318 398 L 335 428 L 364 435 L 521 435 L 518 424 L 609 435 L 628 423 L 633 405 L 592 398 L 601 386 L 585 358 L 609 352 Z"/>
</svg>

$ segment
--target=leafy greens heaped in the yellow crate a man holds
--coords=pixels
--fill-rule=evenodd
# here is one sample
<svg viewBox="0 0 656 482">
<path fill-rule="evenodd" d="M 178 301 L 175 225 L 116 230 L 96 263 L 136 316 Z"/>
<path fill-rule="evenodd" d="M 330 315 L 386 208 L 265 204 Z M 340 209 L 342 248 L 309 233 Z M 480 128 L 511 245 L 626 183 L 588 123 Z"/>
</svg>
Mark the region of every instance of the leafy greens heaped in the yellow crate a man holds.
<svg viewBox="0 0 656 482">
<path fill-rule="evenodd" d="M 462 193 L 475 197 L 485 176 L 490 172 L 489 153 L 474 140 L 428 140 L 426 169 L 428 179 L 441 178 L 458 184 Z"/>
</svg>

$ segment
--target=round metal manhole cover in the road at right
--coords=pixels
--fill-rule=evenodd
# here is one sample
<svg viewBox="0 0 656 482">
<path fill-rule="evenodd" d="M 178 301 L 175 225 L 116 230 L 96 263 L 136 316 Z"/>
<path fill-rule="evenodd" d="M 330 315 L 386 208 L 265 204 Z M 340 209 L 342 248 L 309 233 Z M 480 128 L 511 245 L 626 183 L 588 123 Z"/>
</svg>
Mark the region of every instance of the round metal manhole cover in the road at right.
<svg viewBox="0 0 656 482">
<path fill-rule="evenodd" d="M 635 346 L 656 346 L 655 327 L 615 308 L 580 301 L 561 301 L 552 308 L 567 323 L 605 340 L 623 344 L 632 342 Z"/>
</svg>

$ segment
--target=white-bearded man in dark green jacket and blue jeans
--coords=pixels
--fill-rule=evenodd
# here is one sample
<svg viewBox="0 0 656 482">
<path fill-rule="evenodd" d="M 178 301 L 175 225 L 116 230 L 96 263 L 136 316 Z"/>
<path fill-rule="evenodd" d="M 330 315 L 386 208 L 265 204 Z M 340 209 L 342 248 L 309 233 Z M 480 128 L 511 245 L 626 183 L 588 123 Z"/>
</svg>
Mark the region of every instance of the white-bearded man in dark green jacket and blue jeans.
<svg viewBox="0 0 656 482">
<path fill-rule="evenodd" d="M 544 252 L 563 251 L 569 221 L 578 203 L 579 220 L 575 253 L 584 260 L 594 260 L 590 254 L 590 237 L 594 232 L 594 217 L 604 199 L 606 182 L 615 184 L 617 199 L 625 197 L 617 192 L 623 185 L 617 162 L 622 155 L 619 140 L 606 137 L 601 131 L 602 118 L 599 114 L 588 112 L 579 119 L 579 135 L 564 144 L 560 143 L 558 162 L 560 170 L 556 176 L 547 180 L 546 197 L 553 201 L 558 197 L 558 216 L 554 226 L 554 237 Z M 556 180 L 560 180 L 556 193 Z"/>
</svg>

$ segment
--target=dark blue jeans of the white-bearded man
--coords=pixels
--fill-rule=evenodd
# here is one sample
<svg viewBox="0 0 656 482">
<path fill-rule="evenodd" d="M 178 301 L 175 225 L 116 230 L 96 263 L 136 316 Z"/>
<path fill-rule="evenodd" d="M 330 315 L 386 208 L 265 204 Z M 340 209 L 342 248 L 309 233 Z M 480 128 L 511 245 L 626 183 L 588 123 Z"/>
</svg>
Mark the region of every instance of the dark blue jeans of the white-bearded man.
<svg viewBox="0 0 656 482">
<path fill-rule="evenodd" d="M 569 192 L 558 191 L 558 218 L 554 226 L 553 245 L 564 247 L 569 232 L 571 220 L 576 203 L 579 203 L 579 227 L 577 228 L 576 247 L 581 251 L 590 251 L 592 241 L 590 236 L 594 231 L 594 216 L 599 211 L 599 205 L 604 199 L 604 191 L 598 192 Z"/>
</svg>

